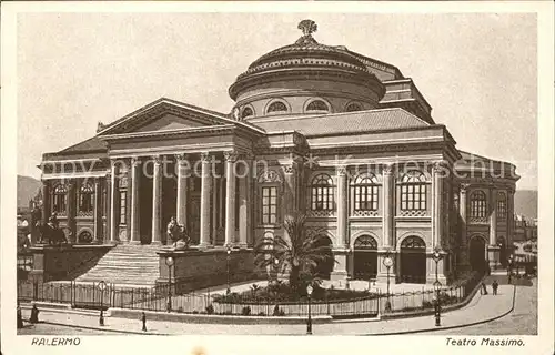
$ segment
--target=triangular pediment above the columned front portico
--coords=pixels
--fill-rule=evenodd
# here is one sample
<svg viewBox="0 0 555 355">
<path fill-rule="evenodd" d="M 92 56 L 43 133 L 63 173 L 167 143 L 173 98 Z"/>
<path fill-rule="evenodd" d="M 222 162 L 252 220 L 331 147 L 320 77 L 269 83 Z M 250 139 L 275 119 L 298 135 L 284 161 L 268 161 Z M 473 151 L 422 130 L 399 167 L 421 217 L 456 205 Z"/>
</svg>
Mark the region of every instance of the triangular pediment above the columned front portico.
<svg viewBox="0 0 555 355">
<path fill-rule="evenodd" d="M 234 124 L 224 114 L 185 103 L 161 99 L 108 126 L 99 125 L 99 135 L 178 131 Z"/>
</svg>

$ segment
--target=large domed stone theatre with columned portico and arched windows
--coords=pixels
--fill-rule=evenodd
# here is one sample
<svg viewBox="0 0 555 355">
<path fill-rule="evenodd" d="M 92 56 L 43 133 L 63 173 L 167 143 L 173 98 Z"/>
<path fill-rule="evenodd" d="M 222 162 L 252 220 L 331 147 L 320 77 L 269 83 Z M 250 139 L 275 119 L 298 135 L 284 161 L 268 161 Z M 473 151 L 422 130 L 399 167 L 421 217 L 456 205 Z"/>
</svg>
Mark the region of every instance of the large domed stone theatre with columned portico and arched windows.
<svg viewBox="0 0 555 355">
<path fill-rule="evenodd" d="M 333 246 L 331 278 L 385 280 L 386 252 L 392 282 L 433 282 L 436 247 L 443 281 L 502 261 L 515 166 L 458 151 L 396 67 L 300 29 L 239 74 L 230 113 L 162 98 L 43 154 L 43 222 L 56 211 L 72 243 L 117 251 L 163 248 L 175 216 L 195 253 L 248 255 L 302 212 Z"/>
</svg>

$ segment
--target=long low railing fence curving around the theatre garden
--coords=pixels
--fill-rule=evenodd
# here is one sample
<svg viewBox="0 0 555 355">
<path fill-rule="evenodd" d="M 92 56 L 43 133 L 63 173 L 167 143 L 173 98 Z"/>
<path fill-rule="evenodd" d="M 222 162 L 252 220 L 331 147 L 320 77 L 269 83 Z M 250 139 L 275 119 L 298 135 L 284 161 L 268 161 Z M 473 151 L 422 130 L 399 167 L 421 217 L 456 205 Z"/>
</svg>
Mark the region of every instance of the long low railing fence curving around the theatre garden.
<svg viewBox="0 0 555 355">
<path fill-rule="evenodd" d="M 465 300 L 480 282 L 482 275 L 474 274 L 463 283 L 444 287 L 440 292 L 442 305 L 456 304 Z M 119 307 L 127 310 L 168 311 L 171 298 L 171 311 L 192 314 L 233 314 L 233 315 L 283 315 L 306 316 L 309 312 L 307 298 L 296 302 L 283 302 L 278 298 L 256 300 L 235 297 L 232 302 L 225 297 L 214 297 L 205 293 L 174 293 L 171 297 L 168 285 L 157 287 L 123 287 L 105 284 L 101 290 L 99 283 L 50 282 L 39 283 L 31 281 L 18 282 L 18 301 L 20 302 L 51 302 L 69 304 L 72 307 L 108 308 Z M 422 290 L 403 293 L 371 293 L 351 300 L 312 301 L 313 315 L 342 316 L 376 316 L 379 313 L 411 312 L 433 307 L 436 291 Z"/>
</svg>

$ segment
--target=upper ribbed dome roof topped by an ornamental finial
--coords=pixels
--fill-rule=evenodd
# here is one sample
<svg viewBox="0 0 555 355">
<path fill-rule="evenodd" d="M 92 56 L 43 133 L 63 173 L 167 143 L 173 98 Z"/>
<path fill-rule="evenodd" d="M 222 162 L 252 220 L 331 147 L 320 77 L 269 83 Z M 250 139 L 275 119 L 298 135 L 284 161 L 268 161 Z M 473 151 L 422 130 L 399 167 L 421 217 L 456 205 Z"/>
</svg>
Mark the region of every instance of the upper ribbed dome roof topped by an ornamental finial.
<svg viewBox="0 0 555 355">
<path fill-rule="evenodd" d="M 354 54 L 342 45 L 325 45 L 319 43 L 312 33 L 317 26 L 312 20 L 303 20 L 299 23 L 303 36 L 293 44 L 278 48 L 252 62 L 249 69 L 236 78 L 230 87 L 230 95 L 235 99 L 240 91 L 248 87 L 246 82 L 265 74 L 276 74 L 283 79 L 286 73 L 301 73 L 306 75 L 319 74 L 322 71 L 339 74 L 355 74 L 359 80 L 371 79 L 375 84 L 379 81 L 367 67 Z M 371 77 L 371 78 L 370 78 Z"/>
</svg>

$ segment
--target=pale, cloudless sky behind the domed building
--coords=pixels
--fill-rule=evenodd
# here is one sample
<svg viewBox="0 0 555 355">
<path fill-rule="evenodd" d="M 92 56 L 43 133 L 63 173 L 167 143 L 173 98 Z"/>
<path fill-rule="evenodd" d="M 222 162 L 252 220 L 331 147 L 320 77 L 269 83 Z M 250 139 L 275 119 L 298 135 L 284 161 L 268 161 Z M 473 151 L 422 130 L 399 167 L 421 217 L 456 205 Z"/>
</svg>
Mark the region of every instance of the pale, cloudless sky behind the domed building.
<svg viewBox="0 0 555 355">
<path fill-rule="evenodd" d="M 330 45 L 412 78 L 460 150 L 517 165 L 537 189 L 537 30 L 533 13 L 20 13 L 18 174 L 161 97 L 229 113 L 228 89 L 297 23 Z"/>
</svg>

